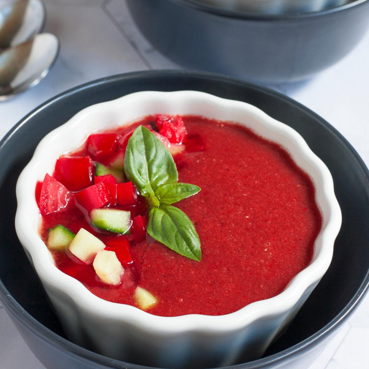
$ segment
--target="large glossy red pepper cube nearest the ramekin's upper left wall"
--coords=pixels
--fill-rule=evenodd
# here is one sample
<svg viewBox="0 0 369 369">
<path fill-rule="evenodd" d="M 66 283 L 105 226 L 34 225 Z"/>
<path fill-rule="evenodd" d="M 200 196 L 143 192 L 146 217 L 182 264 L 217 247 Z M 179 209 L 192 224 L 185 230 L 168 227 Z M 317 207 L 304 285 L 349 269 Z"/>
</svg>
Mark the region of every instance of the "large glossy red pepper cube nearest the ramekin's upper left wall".
<svg viewBox="0 0 369 369">
<path fill-rule="evenodd" d="M 56 161 L 55 178 L 69 191 L 80 191 L 93 180 L 93 165 L 89 156 L 64 156 Z"/>
</svg>

